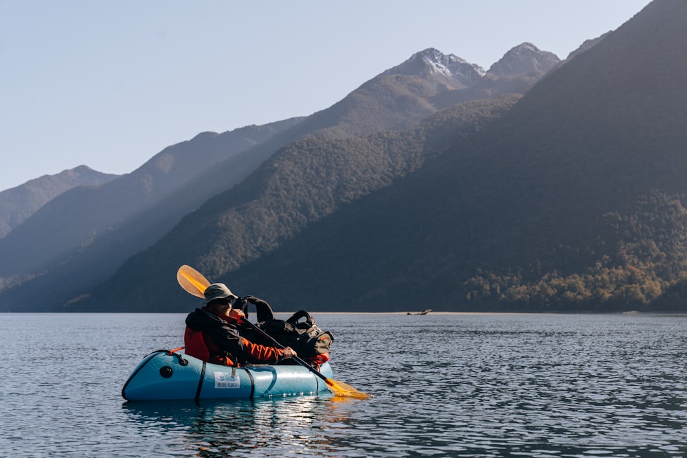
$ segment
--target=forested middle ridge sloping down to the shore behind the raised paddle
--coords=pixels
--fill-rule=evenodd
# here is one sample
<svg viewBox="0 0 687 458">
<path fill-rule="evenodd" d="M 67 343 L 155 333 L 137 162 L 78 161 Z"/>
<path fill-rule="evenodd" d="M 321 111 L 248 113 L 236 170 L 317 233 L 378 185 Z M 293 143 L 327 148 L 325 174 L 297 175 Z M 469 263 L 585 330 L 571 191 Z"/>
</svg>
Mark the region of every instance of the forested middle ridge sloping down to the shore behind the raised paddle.
<svg viewBox="0 0 687 458">
<path fill-rule="evenodd" d="M 168 236 L 128 260 L 109 282 L 68 304 L 69 310 L 185 310 L 188 304 L 181 299 L 188 298 L 179 297 L 174 286 L 179 265 L 192 264 L 214 278 L 236 271 L 313 222 L 417 170 L 447 145 L 485 128 L 517 98 L 448 108 L 404 132 L 289 144 L 247 181 L 208 201 Z M 343 235 L 332 233 L 330 242 Z M 151 288 L 155 301 L 147 295 Z"/>
</svg>

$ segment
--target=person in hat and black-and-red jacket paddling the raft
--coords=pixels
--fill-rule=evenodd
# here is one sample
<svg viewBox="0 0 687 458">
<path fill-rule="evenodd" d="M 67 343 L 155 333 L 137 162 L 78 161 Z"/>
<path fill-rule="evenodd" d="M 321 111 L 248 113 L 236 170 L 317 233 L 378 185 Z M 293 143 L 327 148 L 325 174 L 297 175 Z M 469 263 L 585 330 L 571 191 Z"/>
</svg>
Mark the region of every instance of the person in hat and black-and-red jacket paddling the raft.
<svg viewBox="0 0 687 458">
<path fill-rule="evenodd" d="M 232 309 L 238 299 L 223 283 L 213 283 L 205 289 L 202 308 L 186 317 L 183 335 L 185 353 L 207 363 L 238 366 L 242 363 L 278 363 L 297 356 L 291 347 L 284 349 L 259 345 L 240 336 L 238 323 L 245 314 Z"/>
</svg>

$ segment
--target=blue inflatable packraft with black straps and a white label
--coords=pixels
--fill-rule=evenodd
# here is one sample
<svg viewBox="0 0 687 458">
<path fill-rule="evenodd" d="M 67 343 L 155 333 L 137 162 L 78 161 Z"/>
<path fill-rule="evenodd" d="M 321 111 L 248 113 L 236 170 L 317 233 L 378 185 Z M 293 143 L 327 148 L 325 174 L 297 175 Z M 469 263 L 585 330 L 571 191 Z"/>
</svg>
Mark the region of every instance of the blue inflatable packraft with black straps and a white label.
<svg viewBox="0 0 687 458">
<path fill-rule="evenodd" d="M 332 377 L 329 363 L 320 367 Z M 129 376 L 122 396 L 129 401 L 167 399 L 259 398 L 328 391 L 327 385 L 300 365 L 226 367 L 185 354 L 158 350 Z"/>
</svg>

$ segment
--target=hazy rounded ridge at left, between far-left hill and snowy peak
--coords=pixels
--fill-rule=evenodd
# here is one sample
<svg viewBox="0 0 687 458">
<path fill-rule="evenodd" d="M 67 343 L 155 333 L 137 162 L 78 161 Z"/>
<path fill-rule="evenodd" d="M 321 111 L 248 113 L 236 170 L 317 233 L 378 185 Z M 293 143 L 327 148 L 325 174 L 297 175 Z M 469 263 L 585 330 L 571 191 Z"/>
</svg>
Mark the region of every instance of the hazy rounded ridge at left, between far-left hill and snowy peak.
<svg viewBox="0 0 687 458">
<path fill-rule="evenodd" d="M 297 122 L 300 119 L 223 134 L 202 133 L 165 148 L 134 172 L 100 187 L 74 187 L 56 196 L 0 240 L 0 303 L 19 301 L 25 297 L 23 291 L 39 288 L 59 297 L 61 288 L 75 285 L 64 275 L 78 275 L 78 285 L 111 275 L 117 263 L 157 240 L 181 216 L 224 190 L 232 176 L 209 183 L 207 190 L 195 189 L 183 201 L 175 199 L 190 208 L 161 203 L 207 168 L 224 160 L 238 161 L 238 154 L 246 148 Z M 211 194 L 203 198 L 203 192 Z M 151 223 L 153 213 L 156 219 Z M 128 237 L 130 234 L 135 236 Z"/>
</svg>

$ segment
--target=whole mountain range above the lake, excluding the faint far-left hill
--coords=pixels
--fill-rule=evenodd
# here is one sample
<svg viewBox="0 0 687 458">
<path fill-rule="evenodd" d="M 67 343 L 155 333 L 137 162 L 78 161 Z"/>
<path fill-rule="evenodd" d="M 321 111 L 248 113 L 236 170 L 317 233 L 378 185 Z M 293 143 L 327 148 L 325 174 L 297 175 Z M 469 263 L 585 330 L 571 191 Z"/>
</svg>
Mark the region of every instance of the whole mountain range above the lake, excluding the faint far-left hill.
<svg viewBox="0 0 687 458">
<path fill-rule="evenodd" d="M 563 62 L 523 43 L 486 72 L 426 49 L 234 149 L 201 134 L 14 227 L 0 304 L 188 310 L 191 264 L 275 310 L 681 310 L 686 19 L 654 1 Z"/>
</svg>

